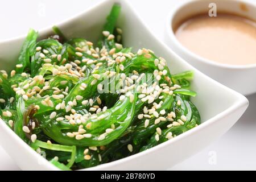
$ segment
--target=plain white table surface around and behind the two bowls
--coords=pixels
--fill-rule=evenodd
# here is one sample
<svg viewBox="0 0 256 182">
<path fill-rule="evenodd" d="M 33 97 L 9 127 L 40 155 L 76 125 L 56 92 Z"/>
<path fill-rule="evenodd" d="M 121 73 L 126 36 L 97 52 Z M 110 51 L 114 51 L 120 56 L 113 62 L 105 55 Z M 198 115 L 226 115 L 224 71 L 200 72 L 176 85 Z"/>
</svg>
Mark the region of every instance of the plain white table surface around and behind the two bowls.
<svg viewBox="0 0 256 182">
<path fill-rule="evenodd" d="M 0 41 L 24 35 L 28 28 L 44 27 L 78 14 L 101 0 L 4 1 L 0 6 Z M 130 0 L 151 30 L 163 40 L 164 23 L 177 2 L 187 0 Z M 248 0 L 255 2 L 254 0 Z M 15 6 L 14 6 L 15 5 Z M 256 94 L 247 97 L 250 106 L 241 119 L 220 139 L 177 164 L 172 170 L 256 170 Z M 19 170 L 0 146 L 0 170 Z"/>
</svg>

